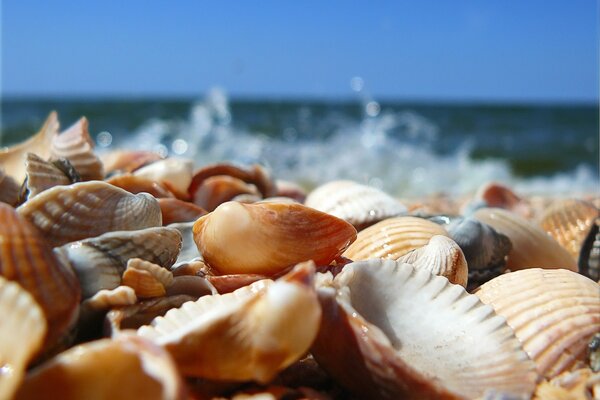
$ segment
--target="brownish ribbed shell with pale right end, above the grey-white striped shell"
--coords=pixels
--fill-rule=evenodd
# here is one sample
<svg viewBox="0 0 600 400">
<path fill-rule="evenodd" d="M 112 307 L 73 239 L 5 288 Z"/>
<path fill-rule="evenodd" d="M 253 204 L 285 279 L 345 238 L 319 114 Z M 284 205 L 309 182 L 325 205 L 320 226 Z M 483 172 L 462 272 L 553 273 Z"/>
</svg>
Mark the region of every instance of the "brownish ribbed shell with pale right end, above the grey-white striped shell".
<svg viewBox="0 0 600 400">
<path fill-rule="evenodd" d="M 160 207 L 146 193 L 133 195 L 105 182 L 81 182 L 48 189 L 17 211 L 53 246 L 105 232 L 161 226 Z"/>
</svg>

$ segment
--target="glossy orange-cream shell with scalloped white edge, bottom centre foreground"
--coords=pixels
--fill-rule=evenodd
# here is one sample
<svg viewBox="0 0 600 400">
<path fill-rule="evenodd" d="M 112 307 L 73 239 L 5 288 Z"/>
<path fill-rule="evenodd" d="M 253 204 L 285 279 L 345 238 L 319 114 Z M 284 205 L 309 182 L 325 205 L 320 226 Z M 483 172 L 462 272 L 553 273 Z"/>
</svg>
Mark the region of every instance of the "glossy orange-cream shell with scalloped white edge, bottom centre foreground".
<svg viewBox="0 0 600 400">
<path fill-rule="evenodd" d="M 137 332 L 166 347 L 184 375 L 267 383 L 315 338 L 313 275 L 314 263 L 303 263 L 275 282 L 185 303 Z"/>
</svg>

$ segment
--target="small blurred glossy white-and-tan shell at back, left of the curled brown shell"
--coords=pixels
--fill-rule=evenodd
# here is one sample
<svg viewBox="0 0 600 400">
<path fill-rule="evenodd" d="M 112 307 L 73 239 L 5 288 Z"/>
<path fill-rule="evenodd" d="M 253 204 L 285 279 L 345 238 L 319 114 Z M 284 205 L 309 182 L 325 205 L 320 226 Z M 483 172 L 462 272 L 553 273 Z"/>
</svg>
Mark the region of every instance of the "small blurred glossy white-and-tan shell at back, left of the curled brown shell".
<svg viewBox="0 0 600 400">
<path fill-rule="evenodd" d="M 134 172 L 134 175 L 155 182 L 167 183 L 175 192 L 187 195 L 188 187 L 192 182 L 193 170 L 193 160 L 166 158 L 139 168 Z"/>
</svg>

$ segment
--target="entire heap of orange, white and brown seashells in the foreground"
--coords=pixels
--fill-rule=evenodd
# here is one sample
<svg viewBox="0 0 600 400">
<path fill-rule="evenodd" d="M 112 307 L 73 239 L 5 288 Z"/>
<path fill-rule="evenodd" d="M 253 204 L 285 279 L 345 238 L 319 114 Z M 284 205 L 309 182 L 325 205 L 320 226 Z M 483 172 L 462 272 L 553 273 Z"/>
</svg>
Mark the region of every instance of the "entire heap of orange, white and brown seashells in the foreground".
<svg viewBox="0 0 600 400">
<path fill-rule="evenodd" d="M 198 163 L 0 150 L 0 399 L 600 398 L 597 194 Z"/>
</svg>

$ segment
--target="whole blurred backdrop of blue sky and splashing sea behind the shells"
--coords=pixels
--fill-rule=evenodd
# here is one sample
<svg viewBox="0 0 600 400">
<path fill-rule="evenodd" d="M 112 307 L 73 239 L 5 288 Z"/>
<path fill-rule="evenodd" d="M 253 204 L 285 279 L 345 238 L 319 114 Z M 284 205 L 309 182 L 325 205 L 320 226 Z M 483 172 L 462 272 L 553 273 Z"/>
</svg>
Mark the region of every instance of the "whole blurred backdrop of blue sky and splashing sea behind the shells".
<svg viewBox="0 0 600 400">
<path fill-rule="evenodd" d="M 0 146 L 56 110 L 306 186 L 600 191 L 592 0 L 1 4 Z"/>
</svg>

